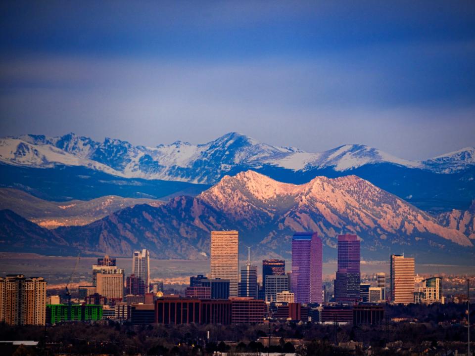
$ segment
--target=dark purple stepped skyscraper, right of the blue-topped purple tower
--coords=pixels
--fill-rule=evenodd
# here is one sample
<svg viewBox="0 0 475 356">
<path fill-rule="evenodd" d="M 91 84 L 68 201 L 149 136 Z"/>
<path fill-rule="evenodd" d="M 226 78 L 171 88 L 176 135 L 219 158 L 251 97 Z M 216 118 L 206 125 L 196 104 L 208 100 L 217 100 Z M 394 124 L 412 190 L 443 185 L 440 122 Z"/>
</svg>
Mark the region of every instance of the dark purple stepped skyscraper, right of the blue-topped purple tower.
<svg viewBox="0 0 475 356">
<path fill-rule="evenodd" d="M 338 270 L 334 293 L 337 302 L 360 299 L 360 241 L 356 235 L 338 235 Z"/>
</svg>

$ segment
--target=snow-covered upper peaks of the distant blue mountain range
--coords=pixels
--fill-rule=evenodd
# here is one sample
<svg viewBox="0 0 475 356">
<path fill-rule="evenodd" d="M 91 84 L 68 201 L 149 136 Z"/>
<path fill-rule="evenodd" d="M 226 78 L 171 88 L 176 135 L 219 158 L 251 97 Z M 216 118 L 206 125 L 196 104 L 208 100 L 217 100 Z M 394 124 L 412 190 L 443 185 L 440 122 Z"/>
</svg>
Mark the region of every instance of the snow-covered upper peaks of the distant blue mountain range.
<svg viewBox="0 0 475 356">
<path fill-rule="evenodd" d="M 0 140 L 0 162 L 50 168 L 57 164 L 85 166 L 126 178 L 180 180 L 214 184 L 226 174 L 249 168 L 275 167 L 293 172 L 331 169 L 346 172 L 370 164 L 387 163 L 409 169 L 452 173 L 475 166 L 474 148 L 424 162 L 394 157 L 376 148 L 349 144 L 321 153 L 294 147 L 275 147 L 237 133 L 205 144 L 176 141 L 156 147 L 133 146 L 127 141 L 66 134 L 47 137 L 22 135 Z"/>
</svg>

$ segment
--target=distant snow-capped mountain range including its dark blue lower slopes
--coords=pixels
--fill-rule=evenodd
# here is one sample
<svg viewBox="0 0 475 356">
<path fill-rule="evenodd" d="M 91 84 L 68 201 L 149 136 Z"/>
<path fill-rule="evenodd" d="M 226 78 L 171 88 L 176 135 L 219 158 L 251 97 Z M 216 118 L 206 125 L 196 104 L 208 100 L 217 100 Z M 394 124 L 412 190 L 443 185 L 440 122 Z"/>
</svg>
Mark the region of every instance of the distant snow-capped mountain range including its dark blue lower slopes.
<svg viewBox="0 0 475 356">
<path fill-rule="evenodd" d="M 71 191 L 61 193 L 67 190 L 61 178 L 64 171 L 75 172 L 71 176 L 76 180 L 99 173 L 108 177 L 91 179 L 94 184 L 86 184 L 89 186 L 102 187 L 103 180 L 123 184 L 130 179 L 145 185 L 151 181 L 200 184 L 188 187 L 191 195 L 196 195 L 226 175 L 249 169 L 295 184 L 309 182 L 316 176 L 357 175 L 427 211 L 466 210 L 475 197 L 474 147 L 414 162 L 361 144 L 308 153 L 295 147 L 275 147 L 237 133 L 225 134 L 205 144 L 176 141 L 156 147 L 134 146 L 111 138 L 97 142 L 75 134 L 57 137 L 29 134 L 0 139 L 0 162 L 3 163 L 2 170 L 15 172 L 16 177 L 22 179 L 22 183 L 18 183 L 18 179 L 6 181 L 3 177 L 0 186 L 22 189 L 50 200 L 90 199 L 104 195 L 102 190 L 101 193 L 91 192 L 88 197 L 77 196 Z M 56 190 L 51 188 L 46 194 L 45 189 L 36 188 L 38 182 L 28 179 L 34 176 L 25 171 L 28 169 L 47 171 Z M 18 173 L 20 170 L 23 173 Z M 112 189 L 112 186 L 109 184 L 108 188 Z M 144 193 L 142 188 L 109 194 L 157 199 L 179 195 L 180 190 L 174 187 L 170 192 L 164 191 L 162 196 L 141 195 Z"/>
</svg>

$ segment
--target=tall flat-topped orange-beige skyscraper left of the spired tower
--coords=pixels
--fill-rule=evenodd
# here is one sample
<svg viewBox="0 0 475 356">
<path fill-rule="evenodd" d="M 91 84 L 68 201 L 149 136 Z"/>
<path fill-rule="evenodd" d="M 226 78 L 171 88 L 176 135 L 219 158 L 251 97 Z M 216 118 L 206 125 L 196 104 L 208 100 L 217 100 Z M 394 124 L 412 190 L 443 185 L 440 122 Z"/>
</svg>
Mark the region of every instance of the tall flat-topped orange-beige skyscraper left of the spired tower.
<svg viewBox="0 0 475 356">
<path fill-rule="evenodd" d="M 238 296 L 239 233 L 211 231 L 211 278 L 229 279 L 229 296 Z"/>
</svg>

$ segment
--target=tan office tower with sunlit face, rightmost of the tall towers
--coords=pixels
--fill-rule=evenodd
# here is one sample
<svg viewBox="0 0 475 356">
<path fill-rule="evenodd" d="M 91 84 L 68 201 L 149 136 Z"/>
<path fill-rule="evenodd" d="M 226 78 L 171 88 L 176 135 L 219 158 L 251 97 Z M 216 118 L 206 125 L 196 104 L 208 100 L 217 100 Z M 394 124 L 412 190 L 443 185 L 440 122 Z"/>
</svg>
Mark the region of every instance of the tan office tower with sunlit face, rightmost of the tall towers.
<svg viewBox="0 0 475 356">
<path fill-rule="evenodd" d="M 390 288 L 393 303 L 409 304 L 414 302 L 414 269 L 414 258 L 391 255 Z"/>
</svg>

